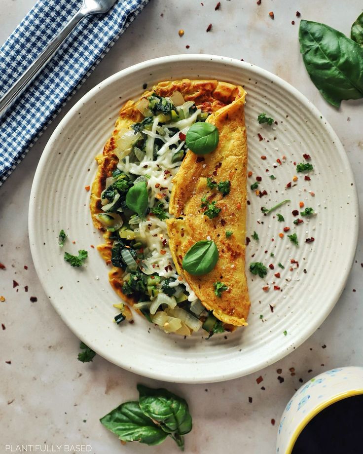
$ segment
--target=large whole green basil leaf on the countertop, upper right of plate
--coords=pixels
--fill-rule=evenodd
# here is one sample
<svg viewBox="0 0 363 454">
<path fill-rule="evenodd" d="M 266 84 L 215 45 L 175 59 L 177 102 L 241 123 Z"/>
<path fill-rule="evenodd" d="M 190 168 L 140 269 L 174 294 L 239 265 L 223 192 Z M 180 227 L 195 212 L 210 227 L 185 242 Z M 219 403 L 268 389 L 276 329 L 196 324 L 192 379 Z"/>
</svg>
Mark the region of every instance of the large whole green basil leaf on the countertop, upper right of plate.
<svg viewBox="0 0 363 454">
<path fill-rule="evenodd" d="M 359 44 L 318 22 L 302 20 L 300 53 L 306 70 L 324 98 L 335 107 L 363 97 L 363 52 Z"/>
</svg>

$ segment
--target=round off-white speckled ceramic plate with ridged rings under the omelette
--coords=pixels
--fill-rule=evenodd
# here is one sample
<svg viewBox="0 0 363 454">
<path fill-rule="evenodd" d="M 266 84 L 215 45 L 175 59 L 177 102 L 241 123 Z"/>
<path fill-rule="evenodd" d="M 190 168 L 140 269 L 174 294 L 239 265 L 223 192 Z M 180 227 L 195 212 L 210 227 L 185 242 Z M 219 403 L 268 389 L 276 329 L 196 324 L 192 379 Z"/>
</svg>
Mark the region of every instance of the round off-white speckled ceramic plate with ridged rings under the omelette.
<svg viewBox="0 0 363 454">
<path fill-rule="evenodd" d="M 182 77 L 216 78 L 245 86 L 249 170 L 254 172 L 248 184 L 250 187 L 255 177 L 261 176 L 260 188 L 268 192 L 259 198 L 249 188 L 247 232 L 251 243 L 246 262 L 247 267 L 254 261 L 273 264 L 275 269 L 269 269 L 267 279 L 247 270 L 252 302 L 249 326 L 208 341 L 202 333 L 185 340 L 166 335 L 137 314 L 133 325 L 117 326 L 112 303 L 117 303 L 118 297 L 109 286 L 105 263 L 90 247 L 99 244 L 101 236 L 91 222 L 85 186 L 93 181 L 94 156 L 109 138 L 118 110 L 129 98 L 140 96 L 144 83 L 150 87 L 160 80 Z M 261 112 L 267 112 L 278 125 L 259 125 L 256 117 Z M 296 186 L 286 189 L 296 175 L 293 162 L 304 162 L 303 153 L 312 157 L 311 181 L 297 174 Z M 267 159 L 262 160 L 261 155 Z M 276 159 L 283 155 L 286 162 L 277 164 Z M 269 178 L 271 174 L 276 180 Z M 285 222 L 278 222 L 276 213 L 262 215 L 261 205 L 271 207 L 286 198 L 291 203 L 276 212 Z M 300 201 L 318 214 L 294 226 L 291 211 L 299 209 Z M 291 228 L 289 233 L 297 233 L 299 247 L 286 235 L 279 237 L 286 226 Z M 57 244 L 61 228 L 68 233 L 63 249 Z M 254 230 L 258 242 L 252 239 Z M 327 121 L 279 77 L 248 63 L 208 55 L 169 56 L 140 63 L 87 93 L 61 121 L 41 156 L 29 212 L 30 243 L 39 279 L 73 332 L 124 369 L 181 382 L 221 381 L 250 374 L 306 340 L 343 290 L 357 233 L 358 200 L 352 171 Z M 310 237 L 315 241 L 305 243 Z M 76 253 L 78 249 L 89 253 L 80 269 L 63 260 L 65 250 Z M 290 264 L 291 259 L 298 262 L 298 268 Z M 285 269 L 278 267 L 279 262 Z M 280 279 L 274 277 L 276 272 L 280 272 Z M 274 282 L 280 291 L 274 290 Z M 268 292 L 262 290 L 265 285 L 270 286 Z"/>
</svg>

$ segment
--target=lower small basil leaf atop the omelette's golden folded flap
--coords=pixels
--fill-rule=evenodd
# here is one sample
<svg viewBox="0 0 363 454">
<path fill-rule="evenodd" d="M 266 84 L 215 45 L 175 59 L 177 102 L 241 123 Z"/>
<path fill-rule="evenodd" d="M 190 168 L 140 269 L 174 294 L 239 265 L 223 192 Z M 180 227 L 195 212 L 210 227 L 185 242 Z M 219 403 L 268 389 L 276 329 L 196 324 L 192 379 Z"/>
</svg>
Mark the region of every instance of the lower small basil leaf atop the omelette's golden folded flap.
<svg viewBox="0 0 363 454">
<path fill-rule="evenodd" d="M 218 249 L 214 241 L 201 240 L 193 244 L 183 258 L 182 266 L 193 276 L 207 274 L 218 262 Z"/>
</svg>

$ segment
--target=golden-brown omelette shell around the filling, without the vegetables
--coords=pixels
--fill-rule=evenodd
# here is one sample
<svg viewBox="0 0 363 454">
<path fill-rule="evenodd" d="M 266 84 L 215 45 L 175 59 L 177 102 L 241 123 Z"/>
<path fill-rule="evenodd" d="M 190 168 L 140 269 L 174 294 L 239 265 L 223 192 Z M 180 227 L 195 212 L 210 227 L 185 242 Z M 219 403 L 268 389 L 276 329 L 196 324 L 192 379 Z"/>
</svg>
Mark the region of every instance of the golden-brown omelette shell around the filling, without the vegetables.
<svg viewBox="0 0 363 454">
<path fill-rule="evenodd" d="M 246 226 L 246 171 L 247 138 L 244 119 L 245 91 L 217 80 L 176 80 L 160 82 L 145 91 L 142 98 L 156 93 L 168 97 L 179 91 L 185 101 L 194 101 L 203 112 L 212 113 L 207 121 L 219 131 L 219 144 L 212 153 L 197 156 L 188 151 L 174 179 L 169 212 L 176 218 L 168 221 L 170 248 L 178 272 L 184 276 L 205 307 L 213 310 L 221 321 L 232 325 L 244 325 L 250 307 L 245 275 L 245 226 Z M 139 100 L 138 100 L 139 101 Z M 109 232 L 95 215 L 103 213 L 101 192 L 106 178 L 111 176 L 118 162 L 114 154 L 121 129 L 143 119 L 136 109 L 137 101 L 128 101 L 121 108 L 112 136 L 103 153 L 96 157 L 98 171 L 92 185 L 90 210 L 95 227 L 103 232 L 105 243 L 98 246 L 102 257 L 111 265 L 112 241 Z M 216 200 L 221 208 L 218 218 L 210 220 L 200 208 L 201 197 L 206 193 L 206 178 L 230 180 L 230 193 L 224 198 L 216 191 L 209 191 L 209 199 Z M 207 189 L 208 190 L 208 189 Z M 232 230 L 228 239 L 226 230 Z M 210 237 L 218 247 L 218 264 L 208 275 L 191 276 L 183 271 L 182 257 L 196 241 Z M 112 265 L 111 265 L 112 266 Z M 109 282 L 116 293 L 127 303 L 135 303 L 132 295 L 122 293 L 123 270 L 112 266 Z M 214 294 L 213 282 L 223 279 L 229 290 L 221 298 Z"/>
</svg>

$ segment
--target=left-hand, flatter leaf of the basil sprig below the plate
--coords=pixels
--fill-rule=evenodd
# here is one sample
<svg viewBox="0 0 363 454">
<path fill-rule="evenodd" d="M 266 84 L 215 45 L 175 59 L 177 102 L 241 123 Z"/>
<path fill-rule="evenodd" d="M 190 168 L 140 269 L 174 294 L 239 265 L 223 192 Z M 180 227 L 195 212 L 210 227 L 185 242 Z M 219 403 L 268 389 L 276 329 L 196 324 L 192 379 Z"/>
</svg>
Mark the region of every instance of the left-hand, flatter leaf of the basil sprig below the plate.
<svg viewBox="0 0 363 454">
<path fill-rule="evenodd" d="M 101 423 L 125 442 L 139 441 L 146 445 L 159 445 L 168 436 L 149 417 L 139 402 L 125 402 L 100 419 Z"/>
</svg>

